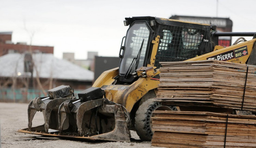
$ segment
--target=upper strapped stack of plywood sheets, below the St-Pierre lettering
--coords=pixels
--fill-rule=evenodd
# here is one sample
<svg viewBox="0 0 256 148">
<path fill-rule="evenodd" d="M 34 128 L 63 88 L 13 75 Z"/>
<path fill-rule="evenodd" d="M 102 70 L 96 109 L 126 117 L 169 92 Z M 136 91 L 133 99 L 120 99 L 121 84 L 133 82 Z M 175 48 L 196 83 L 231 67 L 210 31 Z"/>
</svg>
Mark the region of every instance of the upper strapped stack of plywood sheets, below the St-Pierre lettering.
<svg viewBox="0 0 256 148">
<path fill-rule="evenodd" d="M 224 61 L 161 62 L 157 97 L 170 106 L 256 111 L 256 66 Z"/>
</svg>

